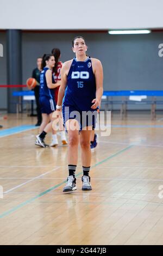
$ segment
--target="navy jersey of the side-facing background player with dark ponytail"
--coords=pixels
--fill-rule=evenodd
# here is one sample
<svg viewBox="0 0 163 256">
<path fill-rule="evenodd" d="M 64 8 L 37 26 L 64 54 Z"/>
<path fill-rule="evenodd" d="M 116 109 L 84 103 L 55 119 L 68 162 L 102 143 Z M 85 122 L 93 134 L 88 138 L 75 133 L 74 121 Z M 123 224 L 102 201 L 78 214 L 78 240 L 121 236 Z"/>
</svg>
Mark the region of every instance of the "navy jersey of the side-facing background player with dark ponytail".
<svg viewBox="0 0 163 256">
<path fill-rule="evenodd" d="M 47 70 L 48 70 L 48 68 L 43 68 L 43 70 L 41 71 L 41 75 L 40 75 L 40 96 L 47 96 L 50 99 L 54 99 L 54 89 L 49 89 L 47 87 L 46 76 L 45 76 Z M 55 83 L 53 75 L 52 75 L 52 83 Z"/>
</svg>

